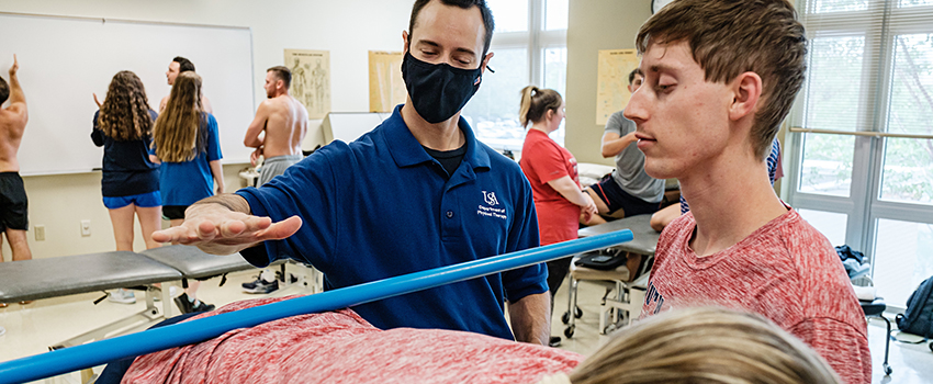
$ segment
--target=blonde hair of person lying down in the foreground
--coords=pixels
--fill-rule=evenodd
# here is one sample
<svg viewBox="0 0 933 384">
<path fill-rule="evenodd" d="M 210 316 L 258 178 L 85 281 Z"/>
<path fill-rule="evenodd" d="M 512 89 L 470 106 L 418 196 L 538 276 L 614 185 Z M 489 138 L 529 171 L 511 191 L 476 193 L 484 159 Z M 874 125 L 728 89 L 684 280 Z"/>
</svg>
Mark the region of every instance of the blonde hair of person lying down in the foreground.
<svg viewBox="0 0 933 384">
<path fill-rule="evenodd" d="M 570 376 L 541 384 L 840 383 L 829 364 L 768 319 L 717 307 L 675 309 L 617 332 Z"/>
</svg>

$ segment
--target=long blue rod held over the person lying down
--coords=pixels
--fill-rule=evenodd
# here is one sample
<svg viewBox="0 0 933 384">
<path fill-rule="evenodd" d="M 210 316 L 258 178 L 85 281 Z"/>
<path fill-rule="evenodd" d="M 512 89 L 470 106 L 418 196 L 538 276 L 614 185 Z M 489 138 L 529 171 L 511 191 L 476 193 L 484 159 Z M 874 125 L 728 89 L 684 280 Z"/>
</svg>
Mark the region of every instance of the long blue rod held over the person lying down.
<svg viewBox="0 0 933 384">
<path fill-rule="evenodd" d="M 117 359 L 186 346 L 237 328 L 334 310 L 443 284 L 528 267 L 631 241 L 631 230 L 526 249 L 481 260 L 408 273 L 314 295 L 220 314 L 146 331 L 59 349 L 0 364 L 0 383 L 22 383 L 100 365 Z"/>
</svg>

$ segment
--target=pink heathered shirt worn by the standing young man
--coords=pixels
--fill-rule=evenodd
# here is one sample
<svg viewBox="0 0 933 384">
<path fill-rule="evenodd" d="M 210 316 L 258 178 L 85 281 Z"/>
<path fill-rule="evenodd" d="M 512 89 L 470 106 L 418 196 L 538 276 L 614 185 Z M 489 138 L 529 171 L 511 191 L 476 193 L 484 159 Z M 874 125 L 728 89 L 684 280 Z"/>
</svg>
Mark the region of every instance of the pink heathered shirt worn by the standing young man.
<svg viewBox="0 0 933 384">
<path fill-rule="evenodd" d="M 757 313 L 812 347 L 844 382 L 870 382 L 867 324 L 848 275 L 797 211 L 702 258 L 689 247 L 695 228 L 687 213 L 661 234 L 642 317 L 701 305 Z"/>
</svg>

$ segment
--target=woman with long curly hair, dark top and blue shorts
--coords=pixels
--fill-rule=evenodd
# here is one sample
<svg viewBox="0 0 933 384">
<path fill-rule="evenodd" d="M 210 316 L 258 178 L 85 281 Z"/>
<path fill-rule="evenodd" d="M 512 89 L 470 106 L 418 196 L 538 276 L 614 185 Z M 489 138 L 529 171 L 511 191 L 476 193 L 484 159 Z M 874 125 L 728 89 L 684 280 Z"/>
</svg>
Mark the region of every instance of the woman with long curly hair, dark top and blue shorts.
<svg viewBox="0 0 933 384">
<path fill-rule="evenodd" d="M 116 250 L 133 250 L 136 216 L 146 248 L 159 246 L 153 240 L 153 231 L 161 227 L 159 165 L 151 161 L 148 151 L 157 117 L 149 109 L 143 81 L 128 70 L 113 76 L 106 99 L 94 113 L 91 139 L 103 147 L 101 194 L 110 212 Z M 133 292 L 122 289 L 111 292 L 109 298 L 125 304 L 136 302 Z"/>
</svg>

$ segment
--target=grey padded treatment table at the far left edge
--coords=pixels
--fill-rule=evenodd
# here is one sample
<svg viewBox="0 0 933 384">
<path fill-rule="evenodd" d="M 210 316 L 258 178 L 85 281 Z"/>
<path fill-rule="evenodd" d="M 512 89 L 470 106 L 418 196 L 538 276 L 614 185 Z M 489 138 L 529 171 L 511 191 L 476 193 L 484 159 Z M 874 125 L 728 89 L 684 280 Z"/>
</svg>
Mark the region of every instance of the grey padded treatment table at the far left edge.
<svg viewBox="0 0 933 384">
<path fill-rule="evenodd" d="M 120 287 L 145 285 L 146 309 L 88 331 L 50 349 L 104 338 L 130 325 L 154 323 L 170 314 L 171 297 L 162 291 L 162 312 L 154 304 L 155 283 L 177 281 L 181 272 L 130 251 L 111 251 L 0 263 L 0 302 L 13 303 Z"/>
</svg>

